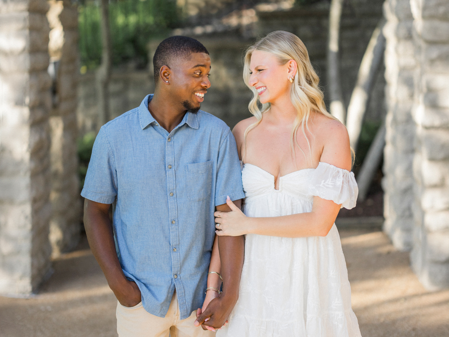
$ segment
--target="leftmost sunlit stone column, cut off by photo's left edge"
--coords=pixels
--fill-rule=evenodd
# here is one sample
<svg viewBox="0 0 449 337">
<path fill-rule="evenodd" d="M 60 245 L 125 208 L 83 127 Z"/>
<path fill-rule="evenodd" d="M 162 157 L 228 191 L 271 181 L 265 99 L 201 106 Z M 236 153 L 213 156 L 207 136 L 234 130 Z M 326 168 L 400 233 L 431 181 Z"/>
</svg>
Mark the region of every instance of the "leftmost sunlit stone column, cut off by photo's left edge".
<svg viewBox="0 0 449 337">
<path fill-rule="evenodd" d="M 0 6 L 0 293 L 29 294 L 50 270 L 45 0 Z"/>
</svg>

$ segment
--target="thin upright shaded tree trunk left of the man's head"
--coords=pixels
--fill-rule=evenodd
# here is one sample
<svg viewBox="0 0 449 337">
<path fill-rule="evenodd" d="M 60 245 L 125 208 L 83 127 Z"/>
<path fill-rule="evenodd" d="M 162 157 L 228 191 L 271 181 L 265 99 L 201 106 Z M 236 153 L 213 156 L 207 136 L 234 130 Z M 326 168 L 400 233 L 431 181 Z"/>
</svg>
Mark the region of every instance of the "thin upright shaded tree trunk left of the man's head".
<svg viewBox="0 0 449 337">
<path fill-rule="evenodd" d="M 110 120 L 109 113 L 109 79 L 111 77 L 111 31 L 109 29 L 108 0 L 100 1 L 101 11 L 101 65 L 96 72 L 98 90 L 98 129 Z"/>
</svg>

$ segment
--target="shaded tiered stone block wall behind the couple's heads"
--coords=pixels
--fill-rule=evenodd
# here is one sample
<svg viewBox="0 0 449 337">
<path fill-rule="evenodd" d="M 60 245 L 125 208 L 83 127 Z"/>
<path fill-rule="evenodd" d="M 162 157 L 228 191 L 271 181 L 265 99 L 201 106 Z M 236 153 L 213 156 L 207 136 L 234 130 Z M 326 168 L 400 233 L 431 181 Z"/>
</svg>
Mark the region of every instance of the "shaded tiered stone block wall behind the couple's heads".
<svg viewBox="0 0 449 337">
<path fill-rule="evenodd" d="M 344 74 L 342 85 L 346 105 L 349 104 L 363 53 L 382 17 L 382 2 L 345 1 L 341 29 L 341 73 Z M 320 76 L 327 102 L 326 48 L 329 3 L 324 1 L 302 8 L 287 8 L 285 5 L 273 3 L 235 10 L 225 15 L 219 23 L 177 29 L 173 32 L 195 37 L 208 48 L 212 58 L 212 87 L 208 90 L 202 109 L 222 118 L 231 128 L 241 119 L 250 116 L 247 107 L 252 93 L 242 78 L 243 51 L 256 37 L 273 30 L 290 31 L 304 41 L 312 64 Z M 153 59 L 159 42 L 160 40 L 154 40 L 149 43 L 150 60 Z M 367 120 L 378 123 L 385 114 L 383 72 L 383 69 L 379 71 L 366 114 Z M 77 115 L 81 134 L 99 128 L 96 117 L 96 89 L 91 83 L 93 76 L 83 75 L 78 87 Z M 136 107 L 145 94 L 153 92 L 152 63 L 150 62 L 146 74 L 144 70 L 115 70 L 111 82 L 110 102 L 112 116 L 115 117 Z"/>
</svg>

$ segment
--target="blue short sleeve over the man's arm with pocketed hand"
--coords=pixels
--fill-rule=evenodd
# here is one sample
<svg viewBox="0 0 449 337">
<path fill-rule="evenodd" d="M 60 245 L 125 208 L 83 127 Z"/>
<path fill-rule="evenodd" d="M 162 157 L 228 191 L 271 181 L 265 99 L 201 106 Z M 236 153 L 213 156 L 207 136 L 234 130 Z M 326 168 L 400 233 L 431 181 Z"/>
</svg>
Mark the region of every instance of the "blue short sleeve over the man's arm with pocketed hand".
<svg viewBox="0 0 449 337">
<path fill-rule="evenodd" d="M 81 196 L 102 204 L 112 204 L 117 195 L 117 171 L 105 127 L 102 126 L 92 148 Z"/>
</svg>

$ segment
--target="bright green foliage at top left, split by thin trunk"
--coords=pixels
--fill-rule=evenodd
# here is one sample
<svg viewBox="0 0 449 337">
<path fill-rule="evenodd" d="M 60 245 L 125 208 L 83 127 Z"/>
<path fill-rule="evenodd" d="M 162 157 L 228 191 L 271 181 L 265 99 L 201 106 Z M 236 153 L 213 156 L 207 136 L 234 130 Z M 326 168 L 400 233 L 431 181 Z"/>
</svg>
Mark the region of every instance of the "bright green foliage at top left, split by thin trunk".
<svg viewBox="0 0 449 337">
<path fill-rule="evenodd" d="M 93 69 L 101 62 L 100 8 L 98 1 L 86 0 L 78 7 L 81 67 Z M 176 0 L 110 0 L 112 64 L 135 60 L 148 63 L 147 43 L 164 36 L 179 22 Z"/>
</svg>

